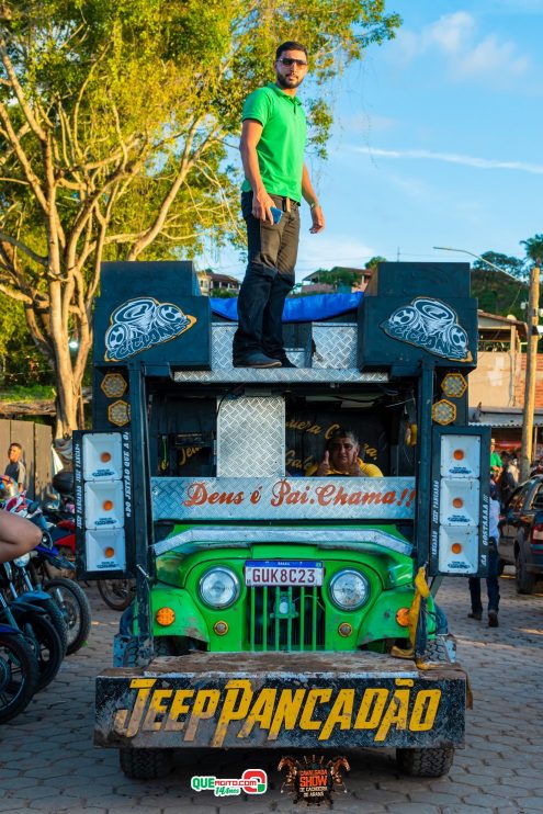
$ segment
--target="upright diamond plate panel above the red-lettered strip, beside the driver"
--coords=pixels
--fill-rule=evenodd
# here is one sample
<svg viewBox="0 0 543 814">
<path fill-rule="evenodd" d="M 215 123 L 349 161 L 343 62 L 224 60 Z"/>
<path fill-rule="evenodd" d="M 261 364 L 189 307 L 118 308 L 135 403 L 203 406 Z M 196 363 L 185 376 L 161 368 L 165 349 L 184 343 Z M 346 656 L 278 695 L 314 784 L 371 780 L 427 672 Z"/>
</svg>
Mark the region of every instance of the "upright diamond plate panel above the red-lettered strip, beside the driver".
<svg viewBox="0 0 543 814">
<path fill-rule="evenodd" d="M 223 400 L 217 417 L 217 476 L 285 474 L 285 403 L 282 396 Z"/>
</svg>

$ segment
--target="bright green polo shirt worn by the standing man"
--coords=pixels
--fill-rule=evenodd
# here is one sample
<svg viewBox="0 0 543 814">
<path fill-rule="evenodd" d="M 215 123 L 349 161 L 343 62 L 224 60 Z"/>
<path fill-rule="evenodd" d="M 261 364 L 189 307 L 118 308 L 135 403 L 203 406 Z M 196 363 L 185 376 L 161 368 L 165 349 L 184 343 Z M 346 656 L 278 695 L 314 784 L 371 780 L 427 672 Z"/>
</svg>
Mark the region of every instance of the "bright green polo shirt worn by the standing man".
<svg viewBox="0 0 543 814">
<path fill-rule="evenodd" d="M 242 120 L 256 118 L 263 126 L 257 145 L 258 163 L 265 191 L 302 201 L 302 171 L 307 122 L 302 102 L 283 93 L 273 82 L 245 100 Z M 247 179 L 241 190 L 250 192 Z"/>
</svg>

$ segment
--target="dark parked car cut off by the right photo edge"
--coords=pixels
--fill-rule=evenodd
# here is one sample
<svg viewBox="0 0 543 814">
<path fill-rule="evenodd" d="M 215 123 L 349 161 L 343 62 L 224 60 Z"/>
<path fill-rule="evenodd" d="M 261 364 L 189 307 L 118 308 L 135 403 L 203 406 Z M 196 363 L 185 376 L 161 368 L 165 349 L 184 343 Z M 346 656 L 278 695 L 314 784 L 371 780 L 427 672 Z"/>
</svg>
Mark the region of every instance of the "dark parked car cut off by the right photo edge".
<svg viewBox="0 0 543 814">
<path fill-rule="evenodd" d="M 514 565 L 517 590 L 533 593 L 543 579 L 543 476 L 517 487 L 506 504 L 499 523 L 499 573 Z"/>
</svg>

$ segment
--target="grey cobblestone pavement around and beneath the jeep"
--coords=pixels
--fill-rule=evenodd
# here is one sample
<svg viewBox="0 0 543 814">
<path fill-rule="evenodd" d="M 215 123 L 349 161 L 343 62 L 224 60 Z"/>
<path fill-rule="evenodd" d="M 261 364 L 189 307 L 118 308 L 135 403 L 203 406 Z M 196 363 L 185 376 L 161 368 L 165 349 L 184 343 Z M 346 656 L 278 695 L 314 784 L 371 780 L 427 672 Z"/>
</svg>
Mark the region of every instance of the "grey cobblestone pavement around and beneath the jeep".
<svg viewBox="0 0 543 814">
<path fill-rule="evenodd" d="M 507 574 L 500 587 L 498 629 L 466 618 L 463 579 L 450 579 L 440 590 L 475 697 L 467 713 L 466 748 L 456 753 L 449 777 L 405 778 L 397 772 L 393 750 L 349 751 L 348 794 L 335 795 L 333 811 L 543 811 L 543 595 L 517 596 Z M 121 773 L 114 749 L 92 746 L 93 678 L 111 665 L 118 614 L 103 606 L 94 587 L 89 596 L 94 615 L 88 646 L 69 656 L 54 683 L 0 728 L 0 812 L 174 814 L 189 806 L 215 814 L 303 811 L 280 793 L 275 750 L 188 750 L 179 753 L 176 772 L 167 780 L 138 782 Z M 269 773 L 269 791 L 258 800 L 241 795 L 223 801 L 211 792 L 191 791 L 192 775 L 239 777 L 249 767 Z"/>
</svg>

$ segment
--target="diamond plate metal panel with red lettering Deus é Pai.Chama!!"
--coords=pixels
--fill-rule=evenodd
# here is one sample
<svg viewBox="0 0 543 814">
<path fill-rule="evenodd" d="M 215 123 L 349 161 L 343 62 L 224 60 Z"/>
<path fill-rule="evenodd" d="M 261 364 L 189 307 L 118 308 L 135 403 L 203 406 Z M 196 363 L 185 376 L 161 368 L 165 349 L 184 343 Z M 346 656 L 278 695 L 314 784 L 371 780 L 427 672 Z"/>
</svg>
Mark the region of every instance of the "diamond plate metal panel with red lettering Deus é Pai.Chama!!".
<svg viewBox="0 0 543 814">
<path fill-rule="evenodd" d="M 253 446 L 253 455 L 257 446 Z M 155 520 L 412 520 L 412 477 L 154 477 Z"/>
</svg>

